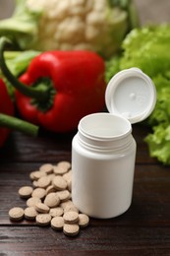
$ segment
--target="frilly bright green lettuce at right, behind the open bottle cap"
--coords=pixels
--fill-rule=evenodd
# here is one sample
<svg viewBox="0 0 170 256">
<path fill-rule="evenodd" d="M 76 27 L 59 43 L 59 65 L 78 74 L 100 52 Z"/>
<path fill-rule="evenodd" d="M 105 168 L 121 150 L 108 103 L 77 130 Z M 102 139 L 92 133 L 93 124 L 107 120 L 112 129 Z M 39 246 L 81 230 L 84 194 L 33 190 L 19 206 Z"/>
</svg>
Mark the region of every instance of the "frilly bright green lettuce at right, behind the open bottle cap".
<svg viewBox="0 0 170 256">
<path fill-rule="evenodd" d="M 122 54 L 106 63 L 107 82 L 123 69 L 138 67 L 153 81 L 156 106 L 146 123 L 152 127 L 145 142 L 151 157 L 170 164 L 170 25 L 147 26 L 130 32 Z"/>
</svg>

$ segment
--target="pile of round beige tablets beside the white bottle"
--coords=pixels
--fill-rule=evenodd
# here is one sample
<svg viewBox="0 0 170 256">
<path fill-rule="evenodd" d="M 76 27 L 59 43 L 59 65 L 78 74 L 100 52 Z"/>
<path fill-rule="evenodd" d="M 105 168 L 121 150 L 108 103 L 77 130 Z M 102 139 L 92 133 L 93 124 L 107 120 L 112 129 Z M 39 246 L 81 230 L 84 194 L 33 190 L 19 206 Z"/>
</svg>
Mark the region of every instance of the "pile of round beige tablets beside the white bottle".
<svg viewBox="0 0 170 256">
<path fill-rule="evenodd" d="M 38 170 L 30 172 L 32 186 L 23 186 L 19 195 L 26 200 L 27 207 L 14 207 L 9 211 L 12 221 L 24 218 L 37 225 L 51 225 L 55 230 L 63 230 L 66 235 L 77 235 L 80 227 L 89 224 L 89 218 L 80 213 L 72 202 L 72 169 L 69 161 L 56 165 L 42 164 Z"/>
</svg>

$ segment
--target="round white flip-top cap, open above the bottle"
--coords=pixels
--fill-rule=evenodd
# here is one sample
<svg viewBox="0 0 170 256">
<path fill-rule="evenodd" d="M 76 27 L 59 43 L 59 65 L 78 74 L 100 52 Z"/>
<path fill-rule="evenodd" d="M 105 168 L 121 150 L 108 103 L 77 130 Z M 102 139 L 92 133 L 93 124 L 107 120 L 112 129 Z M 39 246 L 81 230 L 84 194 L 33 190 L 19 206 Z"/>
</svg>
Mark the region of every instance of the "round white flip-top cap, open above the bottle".
<svg viewBox="0 0 170 256">
<path fill-rule="evenodd" d="M 110 113 L 121 115 L 133 124 L 144 120 L 152 112 L 156 90 L 141 69 L 126 69 L 108 83 L 105 101 Z"/>
</svg>

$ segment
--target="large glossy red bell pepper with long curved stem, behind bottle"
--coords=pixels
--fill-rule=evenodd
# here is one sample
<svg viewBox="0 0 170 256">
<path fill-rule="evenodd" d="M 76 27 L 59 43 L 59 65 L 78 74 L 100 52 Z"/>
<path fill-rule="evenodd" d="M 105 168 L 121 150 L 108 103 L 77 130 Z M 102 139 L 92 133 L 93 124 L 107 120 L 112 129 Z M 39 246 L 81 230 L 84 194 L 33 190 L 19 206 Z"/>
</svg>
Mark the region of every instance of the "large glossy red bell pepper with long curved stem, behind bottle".
<svg viewBox="0 0 170 256">
<path fill-rule="evenodd" d="M 104 108 L 104 61 L 90 51 L 48 51 L 34 57 L 20 82 L 10 74 L 0 41 L 0 63 L 6 78 L 18 89 L 22 116 L 53 132 L 77 128 L 86 114 Z"/>
</svg>

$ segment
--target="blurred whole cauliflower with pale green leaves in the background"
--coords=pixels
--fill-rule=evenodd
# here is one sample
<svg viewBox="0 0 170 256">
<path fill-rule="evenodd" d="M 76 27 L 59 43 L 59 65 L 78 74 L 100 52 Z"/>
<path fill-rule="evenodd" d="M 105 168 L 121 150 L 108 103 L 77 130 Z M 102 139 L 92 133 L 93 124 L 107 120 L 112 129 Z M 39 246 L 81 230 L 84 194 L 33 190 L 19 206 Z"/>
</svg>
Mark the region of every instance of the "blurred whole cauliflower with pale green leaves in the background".
<svg viewBox="0 0 170 256">
<path fill-rule="evenodd" d="M 21 49 L 88 49 L 109 57 L 135 27 L 130 22 L 137 14 L 130 14 L 134 5 L 125 2 L 18 0 L 13 17 L 0 21 L 0 35 L 9 34 Z"/>
</svg>

